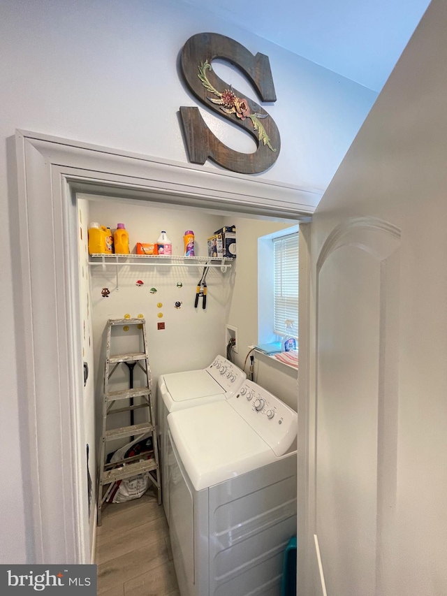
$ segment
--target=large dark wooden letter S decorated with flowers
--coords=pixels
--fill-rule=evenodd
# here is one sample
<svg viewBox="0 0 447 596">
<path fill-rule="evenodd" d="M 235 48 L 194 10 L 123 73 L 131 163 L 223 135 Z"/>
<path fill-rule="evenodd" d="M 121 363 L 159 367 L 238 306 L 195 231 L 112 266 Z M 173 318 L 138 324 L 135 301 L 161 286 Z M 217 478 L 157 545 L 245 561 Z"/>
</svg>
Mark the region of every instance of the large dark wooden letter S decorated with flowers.
<svg viewBox="0 0 447 596">
<path fill-rule="evenodd" d="M 221 80 L 212 60 L 222 58 L 240 68 L 262 101 L 276 101 L 268 57 L 254 56 L 229 37 L 199 33 L 186 41 L 182 50 L 182 73 L 193 94 L 219 115 L 241 126 L 256 140 L 254 153 L 240 153 L 224 145 L 205 124 L 198 108 L 180 108 L 189 161 L 203 164 L 210 158 L 223 168 L 241 174 L 257 174 L 278 159 L 281 140 L 274 119 L 243 94 Z"/>
</svg>

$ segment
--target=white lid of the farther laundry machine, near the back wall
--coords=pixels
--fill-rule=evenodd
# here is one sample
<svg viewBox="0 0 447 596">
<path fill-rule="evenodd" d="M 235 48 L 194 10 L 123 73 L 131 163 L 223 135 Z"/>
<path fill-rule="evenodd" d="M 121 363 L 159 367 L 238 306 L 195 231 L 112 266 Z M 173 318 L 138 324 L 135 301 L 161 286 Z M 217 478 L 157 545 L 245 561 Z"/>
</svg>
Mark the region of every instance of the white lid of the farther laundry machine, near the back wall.
<svg viewBox="0 0 447 596">
<path fill-rule="evenodd" d="M 164 375 L 165 384 L 175 402 L 203 398 L 205 395 L 225 393 L 225 390 L 206 370 L 189 370 Z"/>
</svg>

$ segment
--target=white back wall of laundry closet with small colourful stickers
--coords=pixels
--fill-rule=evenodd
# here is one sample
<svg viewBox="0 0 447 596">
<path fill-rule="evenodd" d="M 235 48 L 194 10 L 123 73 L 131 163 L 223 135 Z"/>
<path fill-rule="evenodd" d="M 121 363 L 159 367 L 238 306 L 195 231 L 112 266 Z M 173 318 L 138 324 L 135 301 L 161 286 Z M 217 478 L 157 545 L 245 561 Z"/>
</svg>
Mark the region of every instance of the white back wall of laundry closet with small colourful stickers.
<svg viewBox="0 0 447 596">
<path fill-rule="evenodd" d="M 200 209 L 169 208 L 142 201 L 113 199 L 91 201 L 90 218 L 111 228 L 116 228 L 118 222 L 124 223 L 129 231 L 131 252 L 136 242 L 156 242 L 163 229 L 173 242 L 173 254 L 181 255 L 184 232 L 193 230 L 197 256 L 207 256 L 207 238 L 222 226 L 223 221 L 221 215 Z M 220 268 L 208 271 L 205 310 L 201 300 L 198 308 L 194 307 L 203 266 L 155 266 L 153 263 L 148 265 L 147 261 L 142 266 L 123 266 L 119 268 L 118 289 L 115 267 L 103 271 L 102 266 L 94 266 L 90 271 L 94 351 L 96 370 L 101 377 L 105 357 L 105 324 L 109 317 L 144 315 L 154 388 L 159 375 L 205 368 L 216 354 L 224 353 L 224 325 L 233 291 L 229 268 L 226 272 L 221 272 Z M 136 285 L 138 280 L 143 282 L 142 286 Z M 177 282 L 181 282 L 182 287 L 177 287 Z M 110 290 L 108 298 L 101 296 L 104 287 Z M 157 290 L 156 293 L 150 292 L 152 287 Z M 176 301 L 182 303 L 178 309 Z M 158 307 L 158 304 L 163 306 Z M 159 314 L 163 317 L 159 318 Z M 159 322 L 165 323 L 164 330 L 157 330 Z M 102 379 L 98 379 L 96 383 L 98 392 L 101 391 L 101 382 Z"/>
</svg>

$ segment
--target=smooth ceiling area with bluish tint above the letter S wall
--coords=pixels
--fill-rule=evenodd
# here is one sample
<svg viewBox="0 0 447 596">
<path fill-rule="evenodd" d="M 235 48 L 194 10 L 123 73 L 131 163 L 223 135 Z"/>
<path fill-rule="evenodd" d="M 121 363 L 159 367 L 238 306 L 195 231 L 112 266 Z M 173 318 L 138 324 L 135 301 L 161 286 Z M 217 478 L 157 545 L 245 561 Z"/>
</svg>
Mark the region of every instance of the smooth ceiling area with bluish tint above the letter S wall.
<svg viewBox="0 0 447 596">
<path fill-rule="evenodd" d="M 186 0 L 379 92 L 430 0 Z"/>
</svg>

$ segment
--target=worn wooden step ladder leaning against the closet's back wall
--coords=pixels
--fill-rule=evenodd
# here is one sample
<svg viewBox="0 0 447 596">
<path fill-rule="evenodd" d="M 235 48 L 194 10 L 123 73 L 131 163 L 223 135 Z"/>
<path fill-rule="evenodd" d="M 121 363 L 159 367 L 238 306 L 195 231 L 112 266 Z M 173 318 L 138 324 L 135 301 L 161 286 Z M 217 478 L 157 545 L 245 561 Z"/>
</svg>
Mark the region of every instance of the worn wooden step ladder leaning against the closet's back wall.
<svg viewBox="0 0 447 596">
<path fill-rule="evenodd" d="M 111 343 L 113 339 L 112 328 L 114 326 L 129 326 L 137 325 L 138 329 L 142 331 L 142 345 L 144 351 L 133 352 L 131 354 L 111 355 Z M 129 388 L 120 391 L 111 391 L 112 386 L 110 377 L 121 363 L 136 363 L 145 374 L 145 386 L 137 388 Z M 140 403 L 133 404 L 134 398 L 140 398 Z M 113 408 L 115 402 L 121 400 L 129 400 L 129 405 L 124 407 Z M 140 424 L 131 424 L 131 426 L 124 426 L 121 428 L 113 428 L 107 430 L 107 421 L 112 414 L 119 412 L 133 412 L 135 409 L 145 409 L 147 412 L 147 421 Z M 132 421 L 133 416 L 131 416 Z M 151 459 L 142 459 L 145 453 L 125 458 L 114 463 L 105 463 L 105 444 L 115 439 L 124 439 L 126 437 L 140 437 L 143 439 L 145 435 L 152 437 L 152 449 L 154 457 Z M 102 509 L 103 504 L 110 495 L 115 482 L 137 476 L 144 472 L 149 472 L 149 479 L 154 484 L 157 493 L 159 504 L 161 504 L 161 477 L 159 465 L 159 450 L 157 444 L 157 433 L 154 424 L 154 408 L 152 405 L 152 376 L 149 365 L 149 353 L 147 350 L 147 333 L 145 319 L 108 319 L 107 322 L 107 348 L 105 355 L 105 370 L 104 370 L 104 400 L 103 400 L 103 423 L 102 435 L 99 446 L 100 451 L 100 468 L 98 479 L 98 525 L 102 523 Z M 108 486 L 105 489 L 105 486 Z"/>
</svg>

